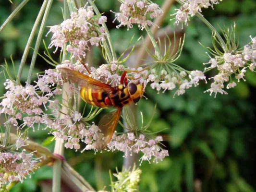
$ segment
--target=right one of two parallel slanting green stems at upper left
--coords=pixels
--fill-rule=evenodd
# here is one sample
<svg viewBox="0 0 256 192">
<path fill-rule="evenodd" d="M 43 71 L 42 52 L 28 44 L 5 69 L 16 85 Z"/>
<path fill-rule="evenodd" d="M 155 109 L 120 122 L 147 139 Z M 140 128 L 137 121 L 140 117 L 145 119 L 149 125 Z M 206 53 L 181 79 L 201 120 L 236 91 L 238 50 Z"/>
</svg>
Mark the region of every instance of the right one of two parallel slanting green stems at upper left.
<svg viewBox="0 0 256 192">
<path fill-rule="evenodd" d="M 38 33 L 38 36 L 37 36 L 37 42 L 36 42 L 36 46 L 35 46 L 35 49 L 34 49 L 34 52 L 33 52 L 32 60 L 31 60 L 30 68 L 29 68 L 29 72 L 28 72 L 28 77 L 27 77 L 27 83 L 28 84 L 30 84 L 30 82 L 31 82 L 32 72 L 34 70 L 35 63 L 36 63 L 36 60 L 37 60 L 37 52 L 38 52 L 38 49 L 39 49 L 39 46 L 40 46 L 40 43 L 41 43 L 41 40 L 42 40 L 42 36 L 43 36 L 44 28 L 45 28 L 45 23 L 46 23 L 48 15 L 49 15 L 49 11 L 50 11 L 50 8 L 51 8 L 52 1 L 53 0 L 49 0 L 48 3 L 47 3 L 45 13 L 44 13 L 44 16 L 43 16 L 43 19 L 42 19 L 42 23 L 41 23 L 41 26 L 39 28 L 39 33 Z"/>
</svg>

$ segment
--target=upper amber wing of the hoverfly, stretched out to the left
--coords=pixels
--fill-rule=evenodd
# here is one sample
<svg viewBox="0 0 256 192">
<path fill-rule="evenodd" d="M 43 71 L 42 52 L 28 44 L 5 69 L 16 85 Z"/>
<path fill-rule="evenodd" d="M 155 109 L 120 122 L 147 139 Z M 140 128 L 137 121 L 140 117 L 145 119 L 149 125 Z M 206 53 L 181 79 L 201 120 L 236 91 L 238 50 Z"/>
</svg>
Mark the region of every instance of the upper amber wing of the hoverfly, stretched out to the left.
<svg viewBox="0 0 256 192">
<path fill-rule="evenodd" d="M 88 87 L 93 88 L 99 91 L 110 92 L 112 91 L 112 87 L 110 84 L 104 84 L 88 75 L 85 75 L 81 72 L 74 71 L 68 68 L 59 68 L 61 72 L 61 76 L 63 79 L 71 81 L 73 84 L 77 84 L 80 87 Z"/>
</svg>

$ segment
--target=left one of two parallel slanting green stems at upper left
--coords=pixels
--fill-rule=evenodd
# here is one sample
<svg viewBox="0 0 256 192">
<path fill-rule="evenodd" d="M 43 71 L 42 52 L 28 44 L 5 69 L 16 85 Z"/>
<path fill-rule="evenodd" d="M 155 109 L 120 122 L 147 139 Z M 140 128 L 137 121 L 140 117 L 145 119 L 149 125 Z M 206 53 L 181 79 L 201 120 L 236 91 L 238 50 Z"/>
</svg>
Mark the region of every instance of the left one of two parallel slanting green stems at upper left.
<svg viewBox="0 0 256 192">
<path fill-rule="evenodd" d="M 29 52 L 29 48 L 32 44 L 32 41 L 34 39 L 34 36 L 36 34 L 36 31 L 37 31 L 37 26 L 38 24 L 40 23 L 41 21 L 41 18 L 44 14 L 44 11 L 46 9 L 46 5 L 47 5 L 47 2 L 48 0 L 44 0 L 43 4 L 42 4 L 42 7 L 37 15 L 37 19 L 35 21 L 35 24 L 31 30 L 31 33 L 28 37 L 28 40 L 27 40 L 27 44 L 26 44 L 26 47 L 24 49 L 24 53 L 23 53 L 23 56 L 22 56 L 22 59 L 21 59 L 21 63 L 20 63 L 20 67 L 19 67 L 19 71 L 18 71 L 18 74 L 17 74 L 17 82 L 19 81 L 19 79 L 21 78 L 21 74 L 22 74 L 22 70 L 23 70 L 23 67 L 24 67 L 24 64 L 26 62 L 26 59 L 27 59 L 27 55 L 28 55 L 28 52 Z"/>
</svg>

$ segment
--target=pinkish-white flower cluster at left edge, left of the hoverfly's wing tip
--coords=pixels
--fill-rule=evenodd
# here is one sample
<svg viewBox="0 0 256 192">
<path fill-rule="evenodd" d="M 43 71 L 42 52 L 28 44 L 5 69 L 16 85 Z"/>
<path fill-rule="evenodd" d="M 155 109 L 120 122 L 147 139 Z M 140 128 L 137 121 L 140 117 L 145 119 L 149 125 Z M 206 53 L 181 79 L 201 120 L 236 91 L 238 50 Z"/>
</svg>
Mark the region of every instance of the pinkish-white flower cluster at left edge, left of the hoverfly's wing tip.
<svg viewBox="0 0 256 192">
<path fill-rule="evenodd" d="M 0 102 L 0 114 L 11 115 L 12 117 L 5 123 L 11 123 L 18 127 L 17 120 L 23 120 L 24 126 L 34 129 L 35 123 L 43 122 L 43 109 L 47 110 L 47 104 L 53 102 L 51 97 L 61 94 L 61 89 L 54 85 L 62 85 L 61 74 L 53 70 L 46 70 L 44 75 L 38 75 L 36 85 L 26 84 L 25 86 L 16 85 L 7 79 L 4 83 L 8 90 Z M 23 118 L 23 115 L 25 116 Z"/>
</svg>

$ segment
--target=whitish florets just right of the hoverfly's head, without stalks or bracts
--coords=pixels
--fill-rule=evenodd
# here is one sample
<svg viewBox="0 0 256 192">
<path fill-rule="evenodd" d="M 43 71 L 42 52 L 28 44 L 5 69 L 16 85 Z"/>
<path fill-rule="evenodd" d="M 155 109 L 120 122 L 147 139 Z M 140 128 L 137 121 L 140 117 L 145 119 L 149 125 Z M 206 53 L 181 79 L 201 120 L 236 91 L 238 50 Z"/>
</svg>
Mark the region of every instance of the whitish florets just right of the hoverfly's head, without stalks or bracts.
<svg viewBox="0 0 256 192">
<path fill-rule="evenodd" d="M 152 89 L 156 89 L 158 92 L 162 89 L 163 93 L 166 90 L 173 90 L 178 87 L 175 95 L 180 96 L 185 93 L 185 89 L 188 89 L 193 85 L 197 86 L 199 80 L 206 81 L 206 76 L 199 70 L 189 72 L 188 74 L 187 78 L 187 72 L 184 71 L 168 74 L 165 70 L 161 70 L 159 73 L 155 69 L 152 69 L 148 75 L 147 82 L 152 82 L 150 84 Z"/>
</svg>

